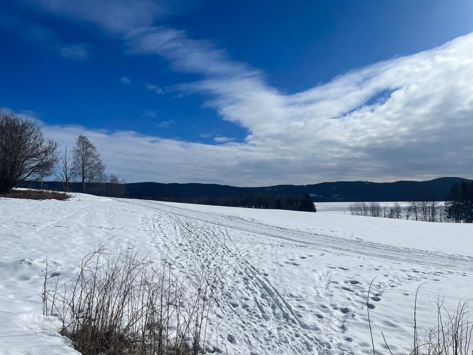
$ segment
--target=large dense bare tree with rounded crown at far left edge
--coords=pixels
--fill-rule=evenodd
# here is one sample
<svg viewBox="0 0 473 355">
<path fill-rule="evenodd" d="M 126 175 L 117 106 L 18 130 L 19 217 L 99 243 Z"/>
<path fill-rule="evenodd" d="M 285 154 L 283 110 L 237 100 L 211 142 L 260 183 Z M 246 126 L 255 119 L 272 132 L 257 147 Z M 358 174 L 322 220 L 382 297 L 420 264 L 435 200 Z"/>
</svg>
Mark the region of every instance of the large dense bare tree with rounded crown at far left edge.
<svg viewBox="0 0 473 355">
<path fill-rule="evenodd" d="M 0 112 L 0 194 L 8 194 L 57 162 L 57 143 L 44 140 L 41 129 L 15 113 Z"/>
</svg>

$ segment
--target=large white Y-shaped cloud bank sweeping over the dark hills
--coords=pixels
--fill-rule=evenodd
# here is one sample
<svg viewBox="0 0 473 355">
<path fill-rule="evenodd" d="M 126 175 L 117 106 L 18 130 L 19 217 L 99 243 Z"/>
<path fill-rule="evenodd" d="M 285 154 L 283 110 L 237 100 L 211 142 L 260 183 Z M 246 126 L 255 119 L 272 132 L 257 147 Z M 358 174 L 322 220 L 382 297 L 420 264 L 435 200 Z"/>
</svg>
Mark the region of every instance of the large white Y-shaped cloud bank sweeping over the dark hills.
<svg viewBox="0 0 473 355">
<path fill-rule="evenodd" d="M 120 33 L 130 54 L 156 54 L 174 70 L 200 75 L 172 89 L 202 95 L 206 107 L 249 132 L 243 143 L 202 144 L 44 126 L 68 144 L 79 132 L 90 135 L 104 150 L 107 165 L 129 181 L 206 181 L 212 176 L 216 182 L 248 186 L 473 175 L 473 34 L 287 94 L 271 87 L 262 71 L 232 60 L 208 40 L 152 27 L 159 11 L 142 14 L 146 1 L 136 5 L 140 11 L 123 15 L 127 20 L 121 25 L 77 3 L 40 2 L 49 11 Z M 109 3 L 104 4 L 106 9 Z M 120 18 L 120 6 L 116 11 Z M 215 138 L 223 143 L 217 139 L 225 137 Z"/>
</svg>

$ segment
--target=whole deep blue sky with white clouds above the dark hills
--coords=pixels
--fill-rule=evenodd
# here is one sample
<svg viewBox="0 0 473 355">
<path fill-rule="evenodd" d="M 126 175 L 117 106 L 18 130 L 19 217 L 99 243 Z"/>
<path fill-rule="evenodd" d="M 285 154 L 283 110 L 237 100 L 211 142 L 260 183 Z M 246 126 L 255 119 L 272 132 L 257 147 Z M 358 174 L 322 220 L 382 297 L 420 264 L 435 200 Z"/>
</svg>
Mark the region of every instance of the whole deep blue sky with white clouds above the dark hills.
<svg viewBox="0 0 473 355">
<path fill-rule="evenodd" d="M 471 175 L 472 132 L 454 142 L 441 132 L 471 128 L 471 91 L 458 80 L 472 69 L 462 61 L 472 2 L 292 3 L 3 2 L 0 107 L 39 120 L 62 146 L 77 132 L 96 136 L 107 171 L 129 181 L 248 186 Z M 396 71 L 398 82 L 389 75 Z M 458 80 L 445 84 L 451 73 Z M 438 83 L 445 92 L 433 90 Z M 415 110 L 396 101 L 423 85 L 428 99 L 419 97 Z M 451 90 L 463 95 L 455 109 Z M 432 109 L 430 100 L 445 105 L 435 114 L 417 108 Z M 418 153 L 407 157 L 412 140 Z M 422 147 L 433 141 L 444 164 L 425 158 Z M 107 148 L 125 142 L 133 147 L 127 154 Z M 453 163 L 454 155 L 463 157 Z"/>
</svg>

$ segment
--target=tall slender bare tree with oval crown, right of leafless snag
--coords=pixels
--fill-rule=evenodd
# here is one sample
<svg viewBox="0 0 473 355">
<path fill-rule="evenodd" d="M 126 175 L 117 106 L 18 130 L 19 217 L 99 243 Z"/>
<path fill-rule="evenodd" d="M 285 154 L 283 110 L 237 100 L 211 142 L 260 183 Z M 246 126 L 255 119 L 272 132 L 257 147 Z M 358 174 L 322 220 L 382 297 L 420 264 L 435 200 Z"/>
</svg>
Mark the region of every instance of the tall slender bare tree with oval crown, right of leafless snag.
<svg viewBox="0 0 473 355">
<path fill-rule="evenodd" d="M 97 181 L 103 175 L 105 165 L 97 153 L 97 148 L 86 136 L 77 137 L 73 154 L 73 170 L 81 177 L 82 191 L 85 193 L 86 183 Z"/>
</svg>

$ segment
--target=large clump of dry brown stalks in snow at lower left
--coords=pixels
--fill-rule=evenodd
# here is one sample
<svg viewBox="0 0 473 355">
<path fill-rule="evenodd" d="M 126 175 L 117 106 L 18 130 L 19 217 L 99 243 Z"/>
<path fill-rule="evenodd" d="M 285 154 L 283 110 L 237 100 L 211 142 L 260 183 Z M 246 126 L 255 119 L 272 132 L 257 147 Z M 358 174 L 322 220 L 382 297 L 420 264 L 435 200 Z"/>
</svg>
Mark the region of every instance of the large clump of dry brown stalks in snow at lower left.
<svg viewBox="0 0 473 355">
<path fill-rule="evenodd" d="M 84 355 L 198 355 L 205 353 L 214 279 L 203 269 L 176 277 L 173 260 L 152 261 L 134 246 L 86 255 L 65 282 L 47 266 L 43 313 Z"/>
</svg>

